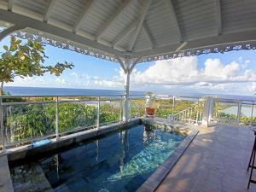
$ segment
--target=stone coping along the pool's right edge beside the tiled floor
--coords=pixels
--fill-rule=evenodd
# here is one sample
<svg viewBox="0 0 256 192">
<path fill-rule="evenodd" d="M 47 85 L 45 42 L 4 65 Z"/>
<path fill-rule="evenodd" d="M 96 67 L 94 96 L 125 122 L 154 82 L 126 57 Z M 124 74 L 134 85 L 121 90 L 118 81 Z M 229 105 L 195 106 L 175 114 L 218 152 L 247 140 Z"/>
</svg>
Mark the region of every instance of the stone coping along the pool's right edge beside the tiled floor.
<svg viewBox="0 0 256 192">
<path fill-rule="evenodd" d="M 166 178 L 167 174 L 177 164 L 177 161 L 183 155 L 190 143 L 197 136 L 199 131 L 191 131 L 183 142 L 173 151 L 173 153 L 160 165 L 157 170 L 137 189 L 137 192 L 154 192 L 160 186 L 160 183 Z"/>
</svg>

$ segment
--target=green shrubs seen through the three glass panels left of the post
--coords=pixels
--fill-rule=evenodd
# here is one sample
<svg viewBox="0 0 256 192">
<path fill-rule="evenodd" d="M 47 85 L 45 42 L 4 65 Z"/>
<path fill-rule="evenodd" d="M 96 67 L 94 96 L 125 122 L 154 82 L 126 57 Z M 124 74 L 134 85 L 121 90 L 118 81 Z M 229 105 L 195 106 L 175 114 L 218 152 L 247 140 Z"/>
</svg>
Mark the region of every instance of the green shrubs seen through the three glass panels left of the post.
<svg viewBox="0 0 256 192">
<path fill-rule="evenodd" d="M 5 110 L 5 135 L 9 142 L 55 134 L 55 103 L 8 107 Z M 79 127 L 96 125 L 97 108 L 82 103 L 59 104 L 59 131 L 74 131 Z M 118 107 L 101 105 L 100 123 L 118 121 Z"/>
</svg>

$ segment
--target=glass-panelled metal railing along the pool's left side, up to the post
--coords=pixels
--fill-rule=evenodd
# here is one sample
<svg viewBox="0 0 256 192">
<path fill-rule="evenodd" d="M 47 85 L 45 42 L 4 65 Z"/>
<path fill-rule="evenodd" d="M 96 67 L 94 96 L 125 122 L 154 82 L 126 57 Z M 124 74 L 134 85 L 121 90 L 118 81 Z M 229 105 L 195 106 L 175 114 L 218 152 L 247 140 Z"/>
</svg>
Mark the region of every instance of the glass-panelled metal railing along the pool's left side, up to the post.
<svg viewBox="0 0 256 192">
<path fill-rule="evenodd" d="M 130 96 L 131 102 L 142 96 Z M 2 148 L 123 121 L 124 96 L 1 96 Z M 135 116 L 142 115 L 134 113 Z"/>
</svg>

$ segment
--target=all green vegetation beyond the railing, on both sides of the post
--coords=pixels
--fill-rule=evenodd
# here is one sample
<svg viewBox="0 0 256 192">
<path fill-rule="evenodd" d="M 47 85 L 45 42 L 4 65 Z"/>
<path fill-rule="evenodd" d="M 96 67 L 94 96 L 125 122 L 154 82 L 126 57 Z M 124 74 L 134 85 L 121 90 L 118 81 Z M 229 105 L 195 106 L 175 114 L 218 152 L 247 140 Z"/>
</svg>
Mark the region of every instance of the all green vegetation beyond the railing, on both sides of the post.
<svg viewBox="0 0 256 192">
<path fill-rule="evenodd" d="M 83 98 L 84 99 L 84 98 Z M 88 99 L 88 98 L 85 98 Z M 95 100 L 96 98 L 93 98 Z M 27 98 L 12 102 L 42 102 L 42 98 Z M 52 103 L 18 105 L 4 108 L 4 127 L 6 139 L 16 142 L 35 137 L 44 137 L 55 134 L 56 105 L 52 97 L 44 98 Z M 60 100 L 61 101 L 61 100 Z M 10 101 L 6 101 L 10 102 Z M 166 118 L 172 112 L 188 108 L 193 102 L 177 101 L 174 110 L 169 100 L 157 100 L 154 103 L 156 116 Z M 100 124 L 119 121 L 121 111 L 119 102 L 105 102 L 100 106 Z M 131 100 L 131 117 L 140 117 L 145 114 L 145 101 Z M 97 108 L 82 102 L 61 102 L 59 104 L 59 132 L 75 131 L 78 128 L 95 127 Z"/>
</svg>

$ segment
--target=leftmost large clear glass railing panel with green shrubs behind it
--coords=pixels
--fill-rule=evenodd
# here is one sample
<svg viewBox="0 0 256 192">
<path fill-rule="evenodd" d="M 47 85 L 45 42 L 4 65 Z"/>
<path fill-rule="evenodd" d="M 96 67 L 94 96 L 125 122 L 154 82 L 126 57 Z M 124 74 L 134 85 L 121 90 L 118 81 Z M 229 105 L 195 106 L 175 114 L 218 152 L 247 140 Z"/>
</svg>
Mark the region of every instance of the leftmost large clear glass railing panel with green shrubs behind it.
<svg viewBox="0 0 256 192">
<path fill-rule="evenodd" d="M 30 143 L 39 137 L 55 137 L 55 103 L 3 106 L 5 145 Z"/>
</svg>

